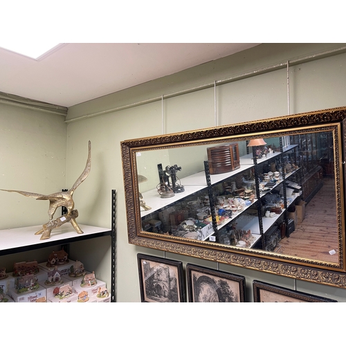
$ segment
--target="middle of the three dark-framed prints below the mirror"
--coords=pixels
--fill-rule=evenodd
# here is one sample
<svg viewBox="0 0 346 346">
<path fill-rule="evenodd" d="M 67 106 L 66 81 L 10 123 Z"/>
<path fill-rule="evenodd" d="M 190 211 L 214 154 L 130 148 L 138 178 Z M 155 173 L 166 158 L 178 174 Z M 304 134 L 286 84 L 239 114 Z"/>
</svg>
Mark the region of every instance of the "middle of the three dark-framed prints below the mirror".
<svg viewBox="0 0 346 346">
<path fill-rule="evenodd" d="M 245 302 L 245 277 L 188 263 L 189 302 Z"/>
</svg>

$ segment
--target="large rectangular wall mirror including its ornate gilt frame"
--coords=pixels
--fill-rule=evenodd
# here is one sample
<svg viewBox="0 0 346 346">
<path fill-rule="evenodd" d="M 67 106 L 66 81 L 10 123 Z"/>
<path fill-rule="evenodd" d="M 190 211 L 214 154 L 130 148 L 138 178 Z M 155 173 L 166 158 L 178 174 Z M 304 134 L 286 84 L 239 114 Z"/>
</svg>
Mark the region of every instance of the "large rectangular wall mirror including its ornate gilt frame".
<svg viewBox="0 0 346 346">
<path fill-rule="evenodd" d="M 346 287 L 345 118 L 122 141 L 129 243 Z"/>
</svg>

